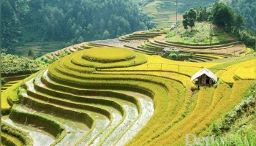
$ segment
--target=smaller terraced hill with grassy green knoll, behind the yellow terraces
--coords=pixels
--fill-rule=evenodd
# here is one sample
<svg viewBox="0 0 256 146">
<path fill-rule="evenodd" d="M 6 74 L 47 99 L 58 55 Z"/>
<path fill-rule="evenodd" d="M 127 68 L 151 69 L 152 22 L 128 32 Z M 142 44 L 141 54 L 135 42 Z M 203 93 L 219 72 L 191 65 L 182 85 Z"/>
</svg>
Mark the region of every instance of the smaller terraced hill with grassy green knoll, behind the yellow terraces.
<svg viewBox="0 0 256 146">
<path fill-rule="evenodd" d="M 207 35 L 209 32 L 213 33 L 213 37 Z M 219 57 L 243 56 L 246 53 L 243 43 L 206 22 L 196 23 L 194 31 L 185 31 L 182 25 L 171 30 L 155 28 L 121 36 L 119 41 L 124 43 L 124 47 L 148 55 L 164 53 L 162 56 L 165 58 L 172 58 L 173 53 L 181 53 L 181 58 L 176 60 L 190 62 L 208 62 Z M 202 54 L 205 56 L 199 56 Z M 214 56 L 214 59 L 206 55 Z"/>
</svg>

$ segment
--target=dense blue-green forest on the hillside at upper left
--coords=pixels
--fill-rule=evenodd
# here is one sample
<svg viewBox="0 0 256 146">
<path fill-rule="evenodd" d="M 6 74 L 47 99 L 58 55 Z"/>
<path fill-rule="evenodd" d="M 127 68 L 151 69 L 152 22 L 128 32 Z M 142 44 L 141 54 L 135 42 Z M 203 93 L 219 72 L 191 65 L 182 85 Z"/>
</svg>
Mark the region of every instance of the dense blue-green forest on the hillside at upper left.
<svg viewBox="0 0 256 146">
<path fill-rule="evenodd" d="M 24 42 L 63 41 L 68 46 L 154 27 L 132 0 L 3 0 L 1 7 L 7 53 Z"/>
</svg>

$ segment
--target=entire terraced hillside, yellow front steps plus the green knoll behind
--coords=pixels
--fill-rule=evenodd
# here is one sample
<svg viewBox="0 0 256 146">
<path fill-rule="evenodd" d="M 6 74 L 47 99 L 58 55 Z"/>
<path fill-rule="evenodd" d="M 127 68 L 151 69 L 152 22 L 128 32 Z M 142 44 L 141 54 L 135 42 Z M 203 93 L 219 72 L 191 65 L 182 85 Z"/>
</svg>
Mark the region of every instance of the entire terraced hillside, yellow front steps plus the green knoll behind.
<svg viewBox="0 0 256 146">
<path fill-rule="evenodd" d="M 35 62 L 39 71 L 1 92 L 2 145 L 256 145 L 255 51 L 211 23 L 83 42 Z"/>
</svg>

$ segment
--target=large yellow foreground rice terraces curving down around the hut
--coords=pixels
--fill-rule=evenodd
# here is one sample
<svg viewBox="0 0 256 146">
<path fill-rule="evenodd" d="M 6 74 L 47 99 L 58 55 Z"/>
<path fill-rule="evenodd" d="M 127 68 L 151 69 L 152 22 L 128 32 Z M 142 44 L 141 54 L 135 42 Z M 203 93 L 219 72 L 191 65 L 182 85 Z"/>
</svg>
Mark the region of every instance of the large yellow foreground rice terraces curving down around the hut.
<svg viewBox="0 0 256 146">
<path fill-rule="evenodd" d="M 205 136 L 246 94 L 255 78 L 243 72 L 253 72 L 255 60 L 241 61 L 178 62 L 118 47 L 80 50 L 28 78 L 10 119 L 50 134 L 41 145 L 49 139 L 53 145 L 184 145 L 185 134 Z M 225 81 L 233 66 L 239 69 L 232 88 L 222 83 L 195 91 L 190 81 L 202 67 L 227 69 L 218 73 Z"/>
</svg>

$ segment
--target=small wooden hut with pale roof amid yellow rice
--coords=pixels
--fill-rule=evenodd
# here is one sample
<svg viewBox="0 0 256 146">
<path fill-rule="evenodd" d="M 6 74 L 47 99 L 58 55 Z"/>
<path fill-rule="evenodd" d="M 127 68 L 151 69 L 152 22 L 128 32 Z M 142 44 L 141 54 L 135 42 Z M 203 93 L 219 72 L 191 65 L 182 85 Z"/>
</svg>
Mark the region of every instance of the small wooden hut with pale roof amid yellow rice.
<svg viewBox="0 0 256 146">
<path fill-rule="evenodd" d="M 204 68 L 195 73 L 190 80 L 195 80 L 195 85 L 199 87 L 202 85 L 214 85 L 214 83 L 218 81 L 218 78 L 214 73 Z"/>
</svg>

